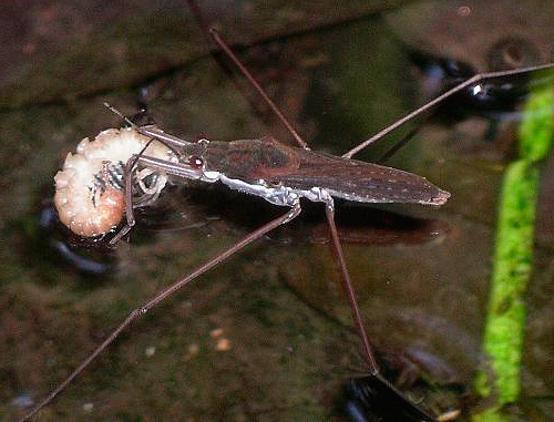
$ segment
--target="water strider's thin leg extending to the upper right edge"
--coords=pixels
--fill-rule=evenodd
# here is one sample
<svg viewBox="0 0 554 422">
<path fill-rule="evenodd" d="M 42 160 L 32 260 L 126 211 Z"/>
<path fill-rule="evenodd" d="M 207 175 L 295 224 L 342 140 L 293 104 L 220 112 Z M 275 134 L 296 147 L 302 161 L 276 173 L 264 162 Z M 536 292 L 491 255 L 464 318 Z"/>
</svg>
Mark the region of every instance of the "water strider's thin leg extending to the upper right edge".
<svg viewBox="0 0 554 422">
<path fill-rule="evenodd" d="M 392 123 L 390 126 L 383 128 L 382 131 L 379 131 L 376 133 L 373 136 L 371 136 L 369 140 L 363 141 L 360 143 L 358 146 L 353 147 L 346 154 L 342 154 L 345 158 L 351 158 L 356 153 L 359 153 L 361 150 L 367 147 L 368 145 L 372 144 L 373 142 L 380 140 L 381 137 L 386 136 L 390 132 L 397 130 L 398 127 L 402 126 L 404 123 L 411 121 L 412 119 L 419 116 L 421 113 L 424 113 L 425 111 L 432 109 L 437 104 L 443 102 L 448 97 L 452 96 L 456 92 L 460 92 L 464 90 L 468 86 L 471 86 L 473 84 L 476 84 L 479 82 L 489 80 L 489 79 L 494 79 L 494 78 L 506 78 L 506 76 L 515 76 L 519 74 L 525 74 L 529 72 L 536 72 L 541 70 L 546 70 L 546 69 L 553 69 L 554 63 L 548 63 L 548 64 L 542 64 L 537 66 L 530 66 L 530 68 L 522 68 L 522 69 L 514 69 L 514 70 L 507 70 L 507 71 L 499 71 L 499 72 L 490 72 L 490 73 L 478 73 L 476 75 L 470 78 L 469 80 L 455 85 L 454 88 L 448 90 L 443 94 L 439 95 L 434 100 L 431 100 L 427 104 L 422 105 L 419 109 L 416 109 L 413 112 L 408 113 L 406 116 L 402 119 L 396 121 Z"/>
</svg>

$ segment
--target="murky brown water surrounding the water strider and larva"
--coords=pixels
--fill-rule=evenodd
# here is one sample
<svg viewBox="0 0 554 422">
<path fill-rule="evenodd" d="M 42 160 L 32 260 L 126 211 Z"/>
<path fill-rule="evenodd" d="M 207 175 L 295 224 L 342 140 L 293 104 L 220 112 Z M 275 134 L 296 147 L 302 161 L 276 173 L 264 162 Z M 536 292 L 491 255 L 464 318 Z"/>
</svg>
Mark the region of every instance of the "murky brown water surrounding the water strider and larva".
<svg viewBox="0 0 554 422">
<path fill-rule="evenodd" d="M 156 208 L 141 214 L 129 244 L 111 251 L 74 249 L 103 264 L 103 269 L 109 267 L 101 275 L 76 269 L 60 253 L 60 241 L 69 241 L 66 234 L 42 227 L 50 215 L 43 210 L 51 205 L 52 177 L 65 154 L 82 137 L 120 124 L 102 102 L 133 114 L 140 86 L 147 88 L 150 110 L 168 132 L 191 140 L 273 133 L 289 142 L 264 107 L 253 111 L 250 101 L 257 101 L 240 79 L 229 80 L 212 58 L 202 56 L 197 35 L 192 44 L 176 41 L 196 31 L 181 4 L 167 2 L 152 10 L 140 3 L 124 19 L 114 6 L 89 20 L 78 12 L 76 2 L 14 8 L 11 14 L 27 22 L 21 28 L 35 32 L 21 30 L 18 38 L 20 27 L 13 24 L 13 40 L 20 42 L 16 44 L 30 51 L 32 60 L 19 66 L 18 60 L 3 64 L 8 82 L 0 90 L 0 416 L 6 420 L 50 391 L 145 298 L 281 212 L 214 187 L 174 187 Z M 266 41 L 245 50 L 243 58 L 315 147 L 347 151 L 422 102 L 418 93 L 425 90 L 420 89 L 402 42 L 406 33 L 393 23 L 400 18 L 384 21 L 352 7 L 340 16 L 321 13 L 314 23 L 290 6 L 274 12 L 273 20 L 261 14 L 256 20 L 256 13 L 245 12 L 245 4 L 236 10 L 248 19 L 235 9 L 234 13 L 248 25 L 263 22 L 252 25 L 250 35 Z M 225 22 L 224 34 L 235 19 L 229 10 L 211 11 Z M 418 17 L 417 11 L 410 13 Z M 352 19 L 360 16 L 363 19 Z M 80 17 L 80 42 L 49 44 L 48 40 L 70 37 L 68 22 L 76 18 L 68 17 Z M 424 30 L 416 18 L 413 22 Z M 42 27 L 32 27 L 38 23 Z M 232 39 L 244 33 L 238 27 L 229 30 Z M 535 35 L 535 27 L 536 50 L 552 51 L 551 38 Z M 284 35 L 300 29 L 306 30 Z M 406 29 L 410 31 L 413 28 Z M 450 49 L 447 35 L 443 43 L 440 37 L 433 34 L 438 47 L 425 48 L 425 53 L 447 56 L 458 51 Z M 156 45 L 176 52 L 176 58 L 157 54 Z M 41 48 L 49 54 L 39 54 Z M 183 51 L 189 55 L 179 55 Z M 476 53 L 486 54 L 486 49 Z M 470 64 L 484 62 L 480 58 Z M 138 66 L 129 70 L 130 63 Z M 427 383 L 412 394 L 421 394 L 416 398 L 437 412 L 464 404 L 462 394 L 453 394 L 449 385 L 471 389 L 474 371 L 484 361 L 480 341 L 496 194 L 512 155 L 514 126 L 511 119 L 491 120 L 479 113 L 454 124 L 431 122 L 388 163 L 451 192 L 441 209 L 381 206 L 375 212 L 339 205 L 347 261 L 370 334 L 384 362 L 398 364 L 397 375 L 410 378 L 402 372 L 406 362 L 420 363 Z M 360 158 L 373 159 L 399 136 Z M 519 408 L 538 420 L 548 414 L 554 390 L 551 166 L 546 165 L 536 269 L 527 295 Z M 309 207 L 307 216 L 288 229 L 258 241 L 150 312 L 41 418 L 335 415 L 339 387 L 358 373 L 361 361 L 325 245 L 322 212 Z M 411 385 L 406 388 L 411 391 Z"/>
</svg>

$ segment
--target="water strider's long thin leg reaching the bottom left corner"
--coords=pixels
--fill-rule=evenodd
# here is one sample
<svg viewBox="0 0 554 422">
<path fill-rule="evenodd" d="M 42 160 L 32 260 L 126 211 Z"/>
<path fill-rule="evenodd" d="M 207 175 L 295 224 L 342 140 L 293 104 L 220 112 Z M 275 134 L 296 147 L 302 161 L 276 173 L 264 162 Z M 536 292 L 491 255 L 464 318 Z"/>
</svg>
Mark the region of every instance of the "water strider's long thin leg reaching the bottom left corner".
<svg viewBox="0 0 554 422">
<path fill-rule="evenodd" d="M 214 268 L 215 266 L 223 263 L 225 259 L 229 258 L 250 243 L 256 239 L 259 239 L 268 231 L 274 228 L 286 224 L 294 219 L 300 214 L 301 207 L 300 203 L 297 202 L 287 213 L 273 219 L 271 222 L 265 224 L 258 229 L 252 231 L 250 234 L 243 237 L 235 245 L 224 250 L 223 253 L 216 255 L 214 258 L 209 259 L 207 263 L 198 267 L 193 272 L 188 274 L 186 277 L 181 280 L 174 282 L 172 286 L 164 289 L 162 292 L 154 296 L 152 299 L 144 302 L 141 307 L 134 309 L 124 320 L 120 323 L 117 328 L 115 328 L 112 333 L 100 344 L 62 383 L 60 383 L 55 390 L 53 390 L 43 401 L 41 401 L 31 412 L 24 415 L 21 421 L 27 421 L 32 418 L 39 410 L 48 405 L 60 392 L 62 392 L 74 379 L 78 377 L 104 349 L 106 349 L 119 336 L 120 333 L 127 328 L 135 319 L 142 317 L 150 309 L 165 300 L 167 297 L 172 296 L 176 291 L 181 290 L 184 286 L 193 281 L 198 276 Z"/>
</svg>

